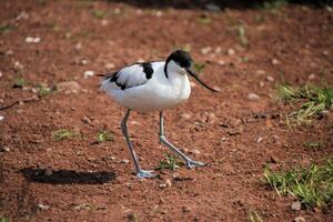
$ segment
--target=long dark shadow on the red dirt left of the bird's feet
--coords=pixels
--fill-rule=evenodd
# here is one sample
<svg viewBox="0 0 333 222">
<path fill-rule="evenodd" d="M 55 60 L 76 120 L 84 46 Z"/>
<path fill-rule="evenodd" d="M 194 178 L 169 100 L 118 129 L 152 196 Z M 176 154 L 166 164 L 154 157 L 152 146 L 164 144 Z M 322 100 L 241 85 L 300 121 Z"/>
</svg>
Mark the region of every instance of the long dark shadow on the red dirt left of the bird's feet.
<svg viewBox="0 0 333 222">
<path fill-rule="evenodd" d="M 24 179 L 30 182 L 50 184 L 103 184 L 115 179 L 114 172 L 77 172 L 73 170 L 44 170 L 24 168 L 20 170 Z"/>
</svg>

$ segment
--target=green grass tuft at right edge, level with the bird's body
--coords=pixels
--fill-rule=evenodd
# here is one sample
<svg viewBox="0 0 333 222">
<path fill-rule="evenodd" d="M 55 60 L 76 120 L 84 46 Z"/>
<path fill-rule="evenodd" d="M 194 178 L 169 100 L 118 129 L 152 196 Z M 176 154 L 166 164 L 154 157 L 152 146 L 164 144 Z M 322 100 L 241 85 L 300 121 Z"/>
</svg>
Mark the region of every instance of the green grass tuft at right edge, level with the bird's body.
<svg viewBox="0 0 333 222">
<path fill-rule="evenodd" d="M 331 87 L 319 88 L 312 84 L 292 87 L 287 83 L 280 83 L 278 91 L 284 101 L 299 107 L 287 115 L 289 125 L 311 123 L 312 119 L 333 105 L 333 88 Z"/>
</svg>

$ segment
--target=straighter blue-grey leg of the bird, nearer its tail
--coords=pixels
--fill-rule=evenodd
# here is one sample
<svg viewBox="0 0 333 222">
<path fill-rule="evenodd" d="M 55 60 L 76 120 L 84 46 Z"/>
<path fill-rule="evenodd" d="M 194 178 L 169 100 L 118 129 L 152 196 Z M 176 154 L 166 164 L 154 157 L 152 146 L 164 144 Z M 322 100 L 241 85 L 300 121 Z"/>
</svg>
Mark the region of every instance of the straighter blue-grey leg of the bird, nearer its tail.
<svg viewBox="0 0 333 222">
<path fill-rule="evenodd" d="M 137 175 L 138 175 L 139 178 L 153 178 L 153 176 L 155 176 L 155 175 L 151 173 L 152 171 L 145 171 L 145 170 L 142 170 L 142 169 L 140 168 L 140 165 L 139 165 L 139 160 L 138 160 L 137 154 L 135 154 L 135 152 L 134 152 L 133 145 L 132 145 L 131 141 L 130 141 L 129 132 L 128 132 L 128 125 L 127 125 L 128 119 L 129 119 L 129 117 L 130 117 L 130 112 L 131 112 L 131 110 L 128 109 L 127 112 L 125 112 L 125 115 L 124 115 L 124 118 L 123 118 L 123 120 L 122 120 L 122 122 L 121 122 L 121 130 L 122 130 L 122 133 L 123 133 L 123 135 L 124 135 L 124 138 L 125 138 L 125 141 L 127 141 L 127 143 L 128 143 L 128 147 L 129 147 L 129 149 L 130 149 L 132 159 L 133 159 L 133 161 L 134 161 L 134 167 L 135 167 Z"/>
</svg>

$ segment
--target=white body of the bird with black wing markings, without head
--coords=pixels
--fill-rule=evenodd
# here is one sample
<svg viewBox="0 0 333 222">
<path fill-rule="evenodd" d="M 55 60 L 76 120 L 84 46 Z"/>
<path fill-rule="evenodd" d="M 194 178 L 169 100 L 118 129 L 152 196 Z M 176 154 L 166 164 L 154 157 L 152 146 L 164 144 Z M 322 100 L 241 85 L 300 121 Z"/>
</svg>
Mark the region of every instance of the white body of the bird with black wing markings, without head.
<svg viewBox="0 0 333 222">
<path fill-rule="evenodd" d="M 149 65 L 151 70 L 145 70 Z M 168 77 L 165 62 L 138 63 L 125 67 L 109 77 L 101 88 L 124 108 L 150 112 L 162 111 L 186 101 L 191 93 L 186 71 L 170 61 Z"/>
</svg>

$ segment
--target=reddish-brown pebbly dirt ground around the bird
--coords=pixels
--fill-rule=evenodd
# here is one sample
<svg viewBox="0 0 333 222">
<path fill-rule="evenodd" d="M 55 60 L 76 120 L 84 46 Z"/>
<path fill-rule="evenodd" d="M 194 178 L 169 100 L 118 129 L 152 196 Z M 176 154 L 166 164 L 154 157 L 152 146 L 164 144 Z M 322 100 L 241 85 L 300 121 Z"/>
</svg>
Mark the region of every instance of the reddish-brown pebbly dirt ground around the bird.
<svg viewBox="0 0 333 222">
<path fill-rule="evenodd" d="M 291 107 L 275 98 L 282 77 L 295 84 L 333 83 L 333 13 L 327 9 L 289 6 L 275 12 L 212 13 L 117 2 L 1 0 L 0 10 L 1 26 L 10 28 L 0 36 L 1 107 L 36 95 L 34 83 L 81 85 L 78 93 L 58 91 L 0 111 L 0 218 L 248 221 L 249 211 L 255 210 L 264 221 L 299 215 L 333 221 L 332 206 L 292 211 L 293 198 L 279 196 L 262 183 L 266 164 L 287 169 L 333 154 L 332 115 L 290 129 L 284 115 Z M 99 19 L 92 16 L 97 10 L 108 13 Z M 241 23 L 249 46 L 240 43 Z M 27 37 L 41 39 L 27 43 Z M 186 44 L 192 57 L 205 63 L 202 79 L 221 92 L 196 84 L 186 103 L 165 112 L 167 138 L 210 165 L 138 180 L 120 130 L 124 109 L 99 91 L 98 77 L 84 79 L 83 72 L 105 73 L 108 63 L 115 70 L 138 60 L 164 59 Z M 28 85 L 12 88 L 20 75 Z M 260 99 L 250 101 L 251 92 Z M 82 137 L 53 141 L 52 132 L 64 128 Z M 158 113 L 134 112 L 129 128 L 142 167 L 159 165 L 168 149 L 158 140 Z M 95 144 L 101 129 L 113 131 L 114 141 Z M 324 149 L 302 145 L 317 140 L 324 141 Z M 171 186 L 160 188 L 167 180 Z"/>
</svg>

